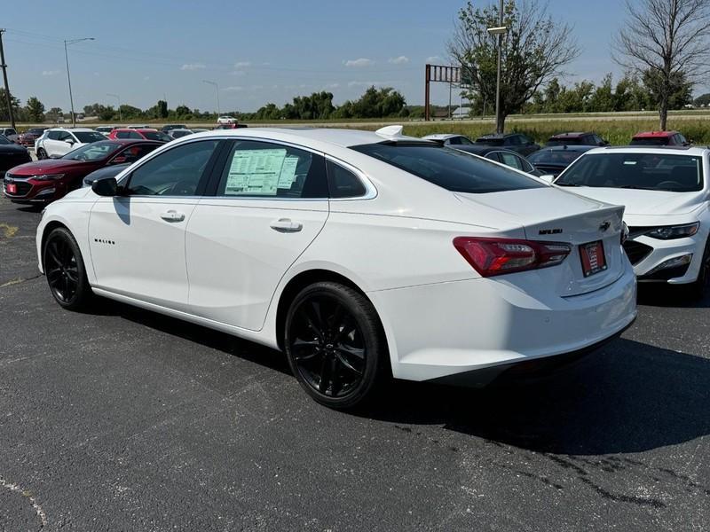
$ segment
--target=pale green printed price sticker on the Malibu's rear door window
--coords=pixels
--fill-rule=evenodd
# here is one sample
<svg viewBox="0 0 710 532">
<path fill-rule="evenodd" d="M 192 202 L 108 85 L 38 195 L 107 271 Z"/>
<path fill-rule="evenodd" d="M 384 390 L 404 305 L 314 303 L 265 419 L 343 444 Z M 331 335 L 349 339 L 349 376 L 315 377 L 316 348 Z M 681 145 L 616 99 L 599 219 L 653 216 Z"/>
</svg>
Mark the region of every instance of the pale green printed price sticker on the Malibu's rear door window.
<svg viewBox="0 0 710 532">
<path fill-rule="evenodd" d="M 227 175 L 225 194 L 275 196 L 285 160 L 285 149 L 236 150 Z M 290 186 L 288 184 L 288 188 Z"/>
</svg>

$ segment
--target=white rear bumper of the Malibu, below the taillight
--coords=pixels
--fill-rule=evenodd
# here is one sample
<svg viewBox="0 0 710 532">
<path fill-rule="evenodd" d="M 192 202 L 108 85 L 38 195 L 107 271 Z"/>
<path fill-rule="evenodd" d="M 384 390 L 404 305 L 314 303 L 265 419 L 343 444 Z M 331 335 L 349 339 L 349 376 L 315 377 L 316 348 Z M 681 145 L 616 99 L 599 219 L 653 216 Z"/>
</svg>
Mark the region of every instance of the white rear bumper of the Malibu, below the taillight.
<svg viewBox="0 0 710 532">
<path fill-rule="evenodd" d="M 611 285 L 566 298 L 548 286 L 517 286 L 516 275 L 368 293 L 383 317 L 393 376 L 485 384 L 513 365 L 593 351 L 635 320 L 627 261 Z"/>
</svg>

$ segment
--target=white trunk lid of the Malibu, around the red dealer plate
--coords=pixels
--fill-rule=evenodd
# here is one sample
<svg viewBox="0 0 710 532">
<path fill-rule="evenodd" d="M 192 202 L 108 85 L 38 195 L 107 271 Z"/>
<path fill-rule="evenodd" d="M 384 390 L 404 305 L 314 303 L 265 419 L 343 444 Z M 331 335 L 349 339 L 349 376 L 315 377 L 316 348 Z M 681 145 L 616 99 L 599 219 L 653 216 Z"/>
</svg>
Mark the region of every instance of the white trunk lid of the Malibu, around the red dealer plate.
<svg viewBox="0 0 710 532">
<path fill-rule="evenodd" d="M 562 264 L 540 270 L 509 274 L 535 276 L 536 282 L 553 287 L 561 297 L 589 293 L 611 285 L 624 272 L 626 255 L 621 248 L 624 207 L 582 198 L 555 187 L 490 194 L 456 193 L 472 208 L 498 218 L 501 223 L 523 228 L 528 240 L 564 242 L 572 246 Z M 585 276 L 580 246 L 601 241 L 606 269 Z"/>
</svg>

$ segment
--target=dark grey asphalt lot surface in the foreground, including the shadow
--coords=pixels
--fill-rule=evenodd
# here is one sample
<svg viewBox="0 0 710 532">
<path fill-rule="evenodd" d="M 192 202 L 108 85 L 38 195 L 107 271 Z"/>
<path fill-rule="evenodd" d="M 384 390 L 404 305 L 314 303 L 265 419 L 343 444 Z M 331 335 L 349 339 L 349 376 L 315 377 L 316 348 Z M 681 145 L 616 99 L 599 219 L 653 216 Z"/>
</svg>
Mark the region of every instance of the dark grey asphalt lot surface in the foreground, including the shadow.
<svg viewBox="0 0 710 532">
<path fill-rule="evenodd" d="M 555 378 L 313 403 L 279 353 L 105 301 L 59 308 L 0 200 L 3 530 L 706 530 L 710 299 L 643 290 Z"/>
</svg>

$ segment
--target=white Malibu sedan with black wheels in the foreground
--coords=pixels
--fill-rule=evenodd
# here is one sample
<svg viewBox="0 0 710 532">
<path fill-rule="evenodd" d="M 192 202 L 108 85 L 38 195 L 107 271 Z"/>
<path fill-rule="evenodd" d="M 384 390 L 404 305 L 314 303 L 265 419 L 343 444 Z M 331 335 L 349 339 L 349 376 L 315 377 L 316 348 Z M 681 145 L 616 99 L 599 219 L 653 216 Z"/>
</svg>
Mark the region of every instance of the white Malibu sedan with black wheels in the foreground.
<svg viewBox="0 0 710 532">
<path fill-rule="evenodd" d="M 99 295 L 281 349 L 349 408 L 389 376 L 480 385 L 618 335 L 623 210 L 397 126 L 221 130 L 52 203 L 36 245 L 62 307 Z"/>
</svg>

